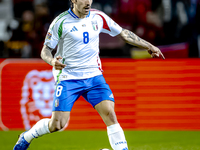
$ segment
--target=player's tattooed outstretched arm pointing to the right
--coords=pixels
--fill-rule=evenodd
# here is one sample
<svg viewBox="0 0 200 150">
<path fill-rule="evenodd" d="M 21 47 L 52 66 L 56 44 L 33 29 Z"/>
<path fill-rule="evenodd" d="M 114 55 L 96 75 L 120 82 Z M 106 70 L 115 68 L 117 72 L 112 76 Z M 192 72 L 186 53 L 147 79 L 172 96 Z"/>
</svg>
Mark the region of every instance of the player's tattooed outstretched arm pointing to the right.
<svg viewBox="0 0 200 150">
<path fill-rule="evenodd" d="M 154 58 L 154 57 L 162 57 L 165 59 L 164 55 L 160 51 L 160 49 L 151 43 L 143 40 L 133 32 L 127 30 L 127 29 L 122 29 L 122 32 L 120 33 L 120 36 L 122 39 L 131 45 L 137 46 L 139 48 L 146 49 L 148 53 Z"/>
</svg>

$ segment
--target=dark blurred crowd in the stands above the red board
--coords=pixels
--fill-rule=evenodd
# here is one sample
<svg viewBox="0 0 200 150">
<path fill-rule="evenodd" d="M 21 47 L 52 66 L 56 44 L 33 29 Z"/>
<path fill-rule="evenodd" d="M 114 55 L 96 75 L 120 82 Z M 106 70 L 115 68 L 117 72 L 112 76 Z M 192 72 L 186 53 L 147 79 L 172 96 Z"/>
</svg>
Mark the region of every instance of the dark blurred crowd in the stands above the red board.
<svg viewBox="0 0 200 150">
<path fill-rule="evenodd" d="M 39 58 L 50 23 L 68 8 L 68 0 L 0 0 L 0 57 Z M 93 8 L 154 45 L 186 42 L 188 57 L 199 57 L 200 0 L 94 0 Z M 130 57 L 132 46 L 101 34 L 100 48 Z"/>
</svg>

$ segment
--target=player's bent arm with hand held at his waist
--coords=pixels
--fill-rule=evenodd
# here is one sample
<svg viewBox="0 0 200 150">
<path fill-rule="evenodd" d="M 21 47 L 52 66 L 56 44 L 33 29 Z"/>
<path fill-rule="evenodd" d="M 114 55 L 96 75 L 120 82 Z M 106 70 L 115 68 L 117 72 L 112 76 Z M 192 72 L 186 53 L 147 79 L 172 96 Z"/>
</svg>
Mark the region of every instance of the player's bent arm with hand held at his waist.
<svg viewBox="0 0 200 150">
<path fill-rule="evenodd" d="M 65 64 L 62 64 L 59 59 L 62 59 L 61 56 L 57 56 L 56 58 L 53 58 L 53 55 L 51 54 L 52 49 L 46 45 L 43 46 L 41 51 L 41 58 L 48 63 L 49 65 L 53 66 L 56 70 L 62 70 L 65 68 Z"/>
</svg>

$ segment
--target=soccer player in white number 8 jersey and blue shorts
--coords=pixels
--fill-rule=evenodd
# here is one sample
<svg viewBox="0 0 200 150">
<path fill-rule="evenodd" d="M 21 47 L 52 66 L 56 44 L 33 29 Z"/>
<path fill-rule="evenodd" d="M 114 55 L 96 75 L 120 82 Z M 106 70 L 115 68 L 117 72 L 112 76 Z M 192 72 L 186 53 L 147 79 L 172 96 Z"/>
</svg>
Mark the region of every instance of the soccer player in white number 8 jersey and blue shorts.
<svg viewBox="0 0 200 150">
<path fill-rule="evenodd" d="M 92 0 L 71 0 L 71 8 L 51 23 L 42 59 L 53 66 L 57 82 L 51 119 L 38 121 L 22 133 L 14 150 L 26 150 L 31 141 L 61 130 L 68 121 L 74 102 L 83 96 L 102 117 L 107 126 L 111 147 L 128 150 L 124 132 L 114 111 L 114 96 L 102 75 L 99 58 L 99 34 L 120 36 L 127 43 L 146 49 L 152 57 L 163 57 L 161 51 L 133 32 L 122 29 L 101 11 L 91 9 Z M 51 51 L 57 47 L 53 58 Z"/>
</svg>

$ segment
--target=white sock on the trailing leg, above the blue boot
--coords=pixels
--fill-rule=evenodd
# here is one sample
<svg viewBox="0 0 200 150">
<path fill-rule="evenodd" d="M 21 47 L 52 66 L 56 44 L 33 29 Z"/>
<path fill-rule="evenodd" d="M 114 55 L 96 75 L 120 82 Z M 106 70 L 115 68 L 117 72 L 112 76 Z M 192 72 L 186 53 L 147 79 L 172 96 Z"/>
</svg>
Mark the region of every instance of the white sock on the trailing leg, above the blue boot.
<svg viewBox="0 0 200 150">
<path fill-rule="evenodd" d="M 50 133 L 48 127 L 49 121 L 50 119 L 38 121 L 29 131 L 25 132 L 24 139 L 30 143 L 34 138 Z"/>
</svg>

